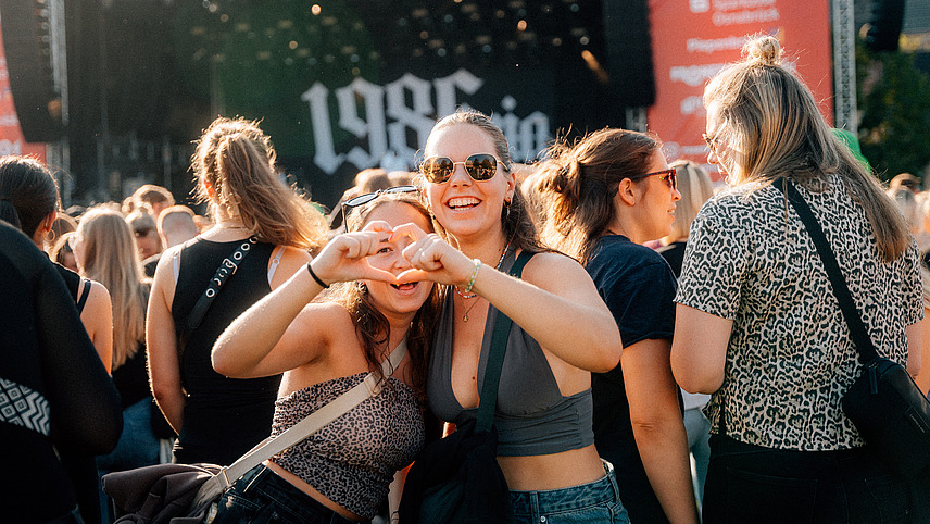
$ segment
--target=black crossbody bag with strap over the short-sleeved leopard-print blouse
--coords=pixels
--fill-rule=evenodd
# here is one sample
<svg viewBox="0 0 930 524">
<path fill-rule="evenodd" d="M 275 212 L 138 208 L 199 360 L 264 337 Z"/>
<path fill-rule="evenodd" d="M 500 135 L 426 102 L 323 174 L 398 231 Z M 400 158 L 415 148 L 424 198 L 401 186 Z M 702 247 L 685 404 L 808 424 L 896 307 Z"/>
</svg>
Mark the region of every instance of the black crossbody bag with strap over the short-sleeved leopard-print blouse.
<svg viewBox="0 0 930 524">
<path fill-rule="evenodd" d="M 843 411 L 891 471 L 908 478 L 930 475 L 930 401 L 904 366 L 876 352 L 840 264 L 807 202 L 787 179 L 776 180 L 775 186 L 786 194 L 814 240 L 863 363 L 859 376 L 843 396 Z"/>
</svg>

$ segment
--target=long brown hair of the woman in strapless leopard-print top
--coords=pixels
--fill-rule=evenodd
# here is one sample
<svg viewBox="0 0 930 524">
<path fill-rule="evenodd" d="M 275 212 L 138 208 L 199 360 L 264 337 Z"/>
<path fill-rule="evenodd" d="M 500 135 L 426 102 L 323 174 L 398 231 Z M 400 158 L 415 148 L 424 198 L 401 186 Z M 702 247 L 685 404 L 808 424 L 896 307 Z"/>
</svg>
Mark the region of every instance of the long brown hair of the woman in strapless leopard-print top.
<svg viewBox="0 0 930 524">
<path fill-rule="evenodd" d="M 387 203 L 401 203 L 410 205 L 422 214 L 427 223 L 430 222 L 426 205 L 415 194 L 381 194 L 375 200 L 353 208 L 347 216 L 350 232 L 360 230 L 367 224 L 367 217 L 375 209 Z M 431 233 L 431 232 L 427 232 Z M 429 297 L 413 317 L 407 332 L 407 353 L 411 358 L 413 370 L 413 386 L 417 392 L 425 398 L 426 395 L 426 366 L 429 358 L 429 345 L 432 340 L 432 329 L 439 319 L 439 286 L 429 282 L 420 285 L 432 285 Z M 372 296 L 361 282 L 348 282 L 334 286 L 327 295 L 327 300 L 342 304 L 352 315 L 355 323 L 355 334 L 365 349 L 365 360 L 368 366 L 378 372 L 380 360 L 386 358 L 385 350 L 390 339 L 391 326 L 388 319 L 378 311 L 372 301 Z"/>
</svg>

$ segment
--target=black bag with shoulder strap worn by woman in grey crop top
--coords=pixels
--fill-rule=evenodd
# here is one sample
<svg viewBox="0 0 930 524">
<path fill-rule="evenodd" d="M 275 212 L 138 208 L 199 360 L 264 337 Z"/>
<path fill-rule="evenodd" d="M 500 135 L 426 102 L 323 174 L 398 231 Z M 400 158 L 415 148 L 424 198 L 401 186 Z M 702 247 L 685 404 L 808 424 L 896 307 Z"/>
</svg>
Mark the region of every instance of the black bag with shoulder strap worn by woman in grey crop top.
<svg viewBox="0 0 930 524">
<path fill-rule="evenodd" d="M 511 275 L 519 278 L 531 257 L 520 253 Z M 498 385 L 512 325 L 511 319 L 498 313 L 475 421 L 463 423 L 452 435 L 428 444 L 410 469 L 399 508 L 401 524 L 513 521 L 510 489 L 498 465 L 498 436 L 493 428 Z"/>
</svg>

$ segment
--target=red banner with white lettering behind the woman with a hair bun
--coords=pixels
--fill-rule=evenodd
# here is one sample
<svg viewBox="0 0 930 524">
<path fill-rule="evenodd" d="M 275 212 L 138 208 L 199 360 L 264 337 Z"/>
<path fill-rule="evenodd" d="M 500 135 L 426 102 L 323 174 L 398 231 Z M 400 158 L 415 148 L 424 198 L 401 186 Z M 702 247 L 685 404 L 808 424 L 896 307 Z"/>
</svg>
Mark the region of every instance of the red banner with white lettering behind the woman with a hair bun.
<svg viewBox="0 0 930 524">
<path fill-rule="evenodd" d="M 668 161 L 707 164 L 707 80 L 740 59 L 746 38 L 776 36 L 783 63 L 804 79 L 827 121 L 833 122 L 830 13 L 827 0 L 650 0 L 656 101 L 646 118 L 665 142 Z"/>
</svg>

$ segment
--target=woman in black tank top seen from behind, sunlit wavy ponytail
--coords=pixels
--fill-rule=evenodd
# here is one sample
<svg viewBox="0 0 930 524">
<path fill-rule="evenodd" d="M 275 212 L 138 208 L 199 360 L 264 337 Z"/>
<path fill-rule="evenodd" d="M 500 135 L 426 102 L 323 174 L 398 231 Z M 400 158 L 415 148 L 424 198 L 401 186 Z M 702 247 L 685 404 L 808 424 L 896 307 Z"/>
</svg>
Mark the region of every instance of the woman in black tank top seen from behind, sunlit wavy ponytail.
<svg viewBox="0 0 930 524">
<path fill-rule="evenodd" d="M 191 163 L 214 226 L 159 261 L 147 315 L 149 373 L 155 401 L 178 432 L 174 460 L 229 464 L 268 436 L 280 375 L 227 378 L 213 371 L 210 350 L 240 313 L 310 261 L 326 222 L 281 182 L 271 139 L 254 122 L 217 118 Z M 202 321 L 188 327 L 221 263 L 252 237 L 257 242 Z"/>
</svg>

